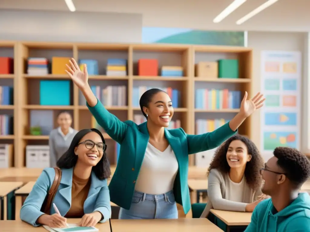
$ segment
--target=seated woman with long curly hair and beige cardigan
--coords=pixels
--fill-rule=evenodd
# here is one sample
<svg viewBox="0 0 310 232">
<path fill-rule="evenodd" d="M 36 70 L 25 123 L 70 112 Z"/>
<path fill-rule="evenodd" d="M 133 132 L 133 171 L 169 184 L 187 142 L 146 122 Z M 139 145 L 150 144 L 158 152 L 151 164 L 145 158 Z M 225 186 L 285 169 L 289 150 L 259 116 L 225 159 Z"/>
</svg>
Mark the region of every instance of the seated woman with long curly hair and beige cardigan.
<svg viewBox="0 0 310 232">
<path fill-rule="evenodd" d="M 251 140 L 241 135 L 226 140 L 208 168 L 208 204 L 200 217 L 207 217 L 211 208 L 253 212 L 263 199 L 263 166 L 263 158 Z"/>
</svg>

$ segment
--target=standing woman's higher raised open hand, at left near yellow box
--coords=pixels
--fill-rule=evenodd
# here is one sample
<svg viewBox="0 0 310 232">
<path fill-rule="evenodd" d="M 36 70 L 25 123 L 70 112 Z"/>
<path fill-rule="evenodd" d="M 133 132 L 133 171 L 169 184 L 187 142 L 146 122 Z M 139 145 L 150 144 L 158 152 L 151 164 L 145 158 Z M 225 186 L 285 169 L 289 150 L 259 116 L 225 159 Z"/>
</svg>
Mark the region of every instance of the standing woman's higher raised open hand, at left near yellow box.
<svg viewBox="0 0 310 232">
<path fill-rule="evenodd" d="M 78 63 L 75 59 L 71 58 L 69 60 L 70 66 L 66 64 L 68 70 L 65 70 L 69 77 L 72 79 L 73 83 L 78 86 L 79 89 L 83 89 L 88 85 L 88 73 L 87 67 L 84 65 L 83 71 L 80 70 Z"/>
</svg>

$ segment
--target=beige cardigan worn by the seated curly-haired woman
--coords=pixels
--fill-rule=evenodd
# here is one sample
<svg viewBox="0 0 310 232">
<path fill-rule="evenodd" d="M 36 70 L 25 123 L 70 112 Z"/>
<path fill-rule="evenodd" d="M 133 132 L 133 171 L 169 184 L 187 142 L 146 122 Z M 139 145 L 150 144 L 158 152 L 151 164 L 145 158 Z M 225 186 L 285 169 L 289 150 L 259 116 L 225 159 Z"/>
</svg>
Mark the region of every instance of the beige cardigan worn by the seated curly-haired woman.
<svg viewBox="0 0 310 232">
<path fill-rule="evenodd" d="M 212 169 L 208 177 L 208 204 L 200 217 L 207 217 L 210 209 L 245 212 L 246 205 L 257 200 L 262 194 L 260 188 L 254 190 L 245 182 L 242 183 L 242 196 L 234 196 L 233 192 L 240 192 L 238 184 L 234 185 L 228 174 L 222 174 L 217 169 Z M 239 186 L 240 187 L 240 186 Z M 240 202 L 233 201 L 240 199 Z"/>
</svg>

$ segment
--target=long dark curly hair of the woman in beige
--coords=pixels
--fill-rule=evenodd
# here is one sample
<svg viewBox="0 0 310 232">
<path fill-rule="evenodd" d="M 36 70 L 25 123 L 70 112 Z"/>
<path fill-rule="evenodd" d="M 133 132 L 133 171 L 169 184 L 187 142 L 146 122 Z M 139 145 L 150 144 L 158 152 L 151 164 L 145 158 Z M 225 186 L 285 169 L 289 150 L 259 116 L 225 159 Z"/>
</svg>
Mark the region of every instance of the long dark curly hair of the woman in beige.
<svg viewBox="0 0 310 232">
<path fill-rule="evenodd" d="M 246 183 L 252 189 L 257 189 L 261 186 L 263 181 L 262 176 L 260 175 L 260 169 L 264 167 L 264 161 L 256 145 L 250 139 L 241 135 L 233 135 L 219 146 L 219 148 L 215 151 L 208 168 L 208 175 L 211 169 L 217 169 L 222 174 L 229 173 L 230 166 L 228 165 L 226 154 L 230 143 L 234 140 L 240 140 L 243 142 L 248 149 L 248 154 L 252 156 L 251 160 L 246 163 L 244 175 L 246 178 Z"/>
</svg>

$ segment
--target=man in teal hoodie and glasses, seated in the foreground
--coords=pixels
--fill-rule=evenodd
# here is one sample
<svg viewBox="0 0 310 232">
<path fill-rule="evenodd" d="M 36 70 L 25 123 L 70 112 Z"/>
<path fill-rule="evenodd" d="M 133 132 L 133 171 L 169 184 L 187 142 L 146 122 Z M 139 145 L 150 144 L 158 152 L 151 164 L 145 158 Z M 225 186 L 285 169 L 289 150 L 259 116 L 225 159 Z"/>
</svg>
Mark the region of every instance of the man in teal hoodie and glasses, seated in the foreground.
<svg viewBox="0 0 310 232">
<path fill-rule="evenodd" d="M 299 193 L 310 163 L 293 148 L 278 147 L 261 169 L 262 192 L 271 198 L 254 209 L 245 232 L 310 232 L 310 196 Z"/>
</svg>

